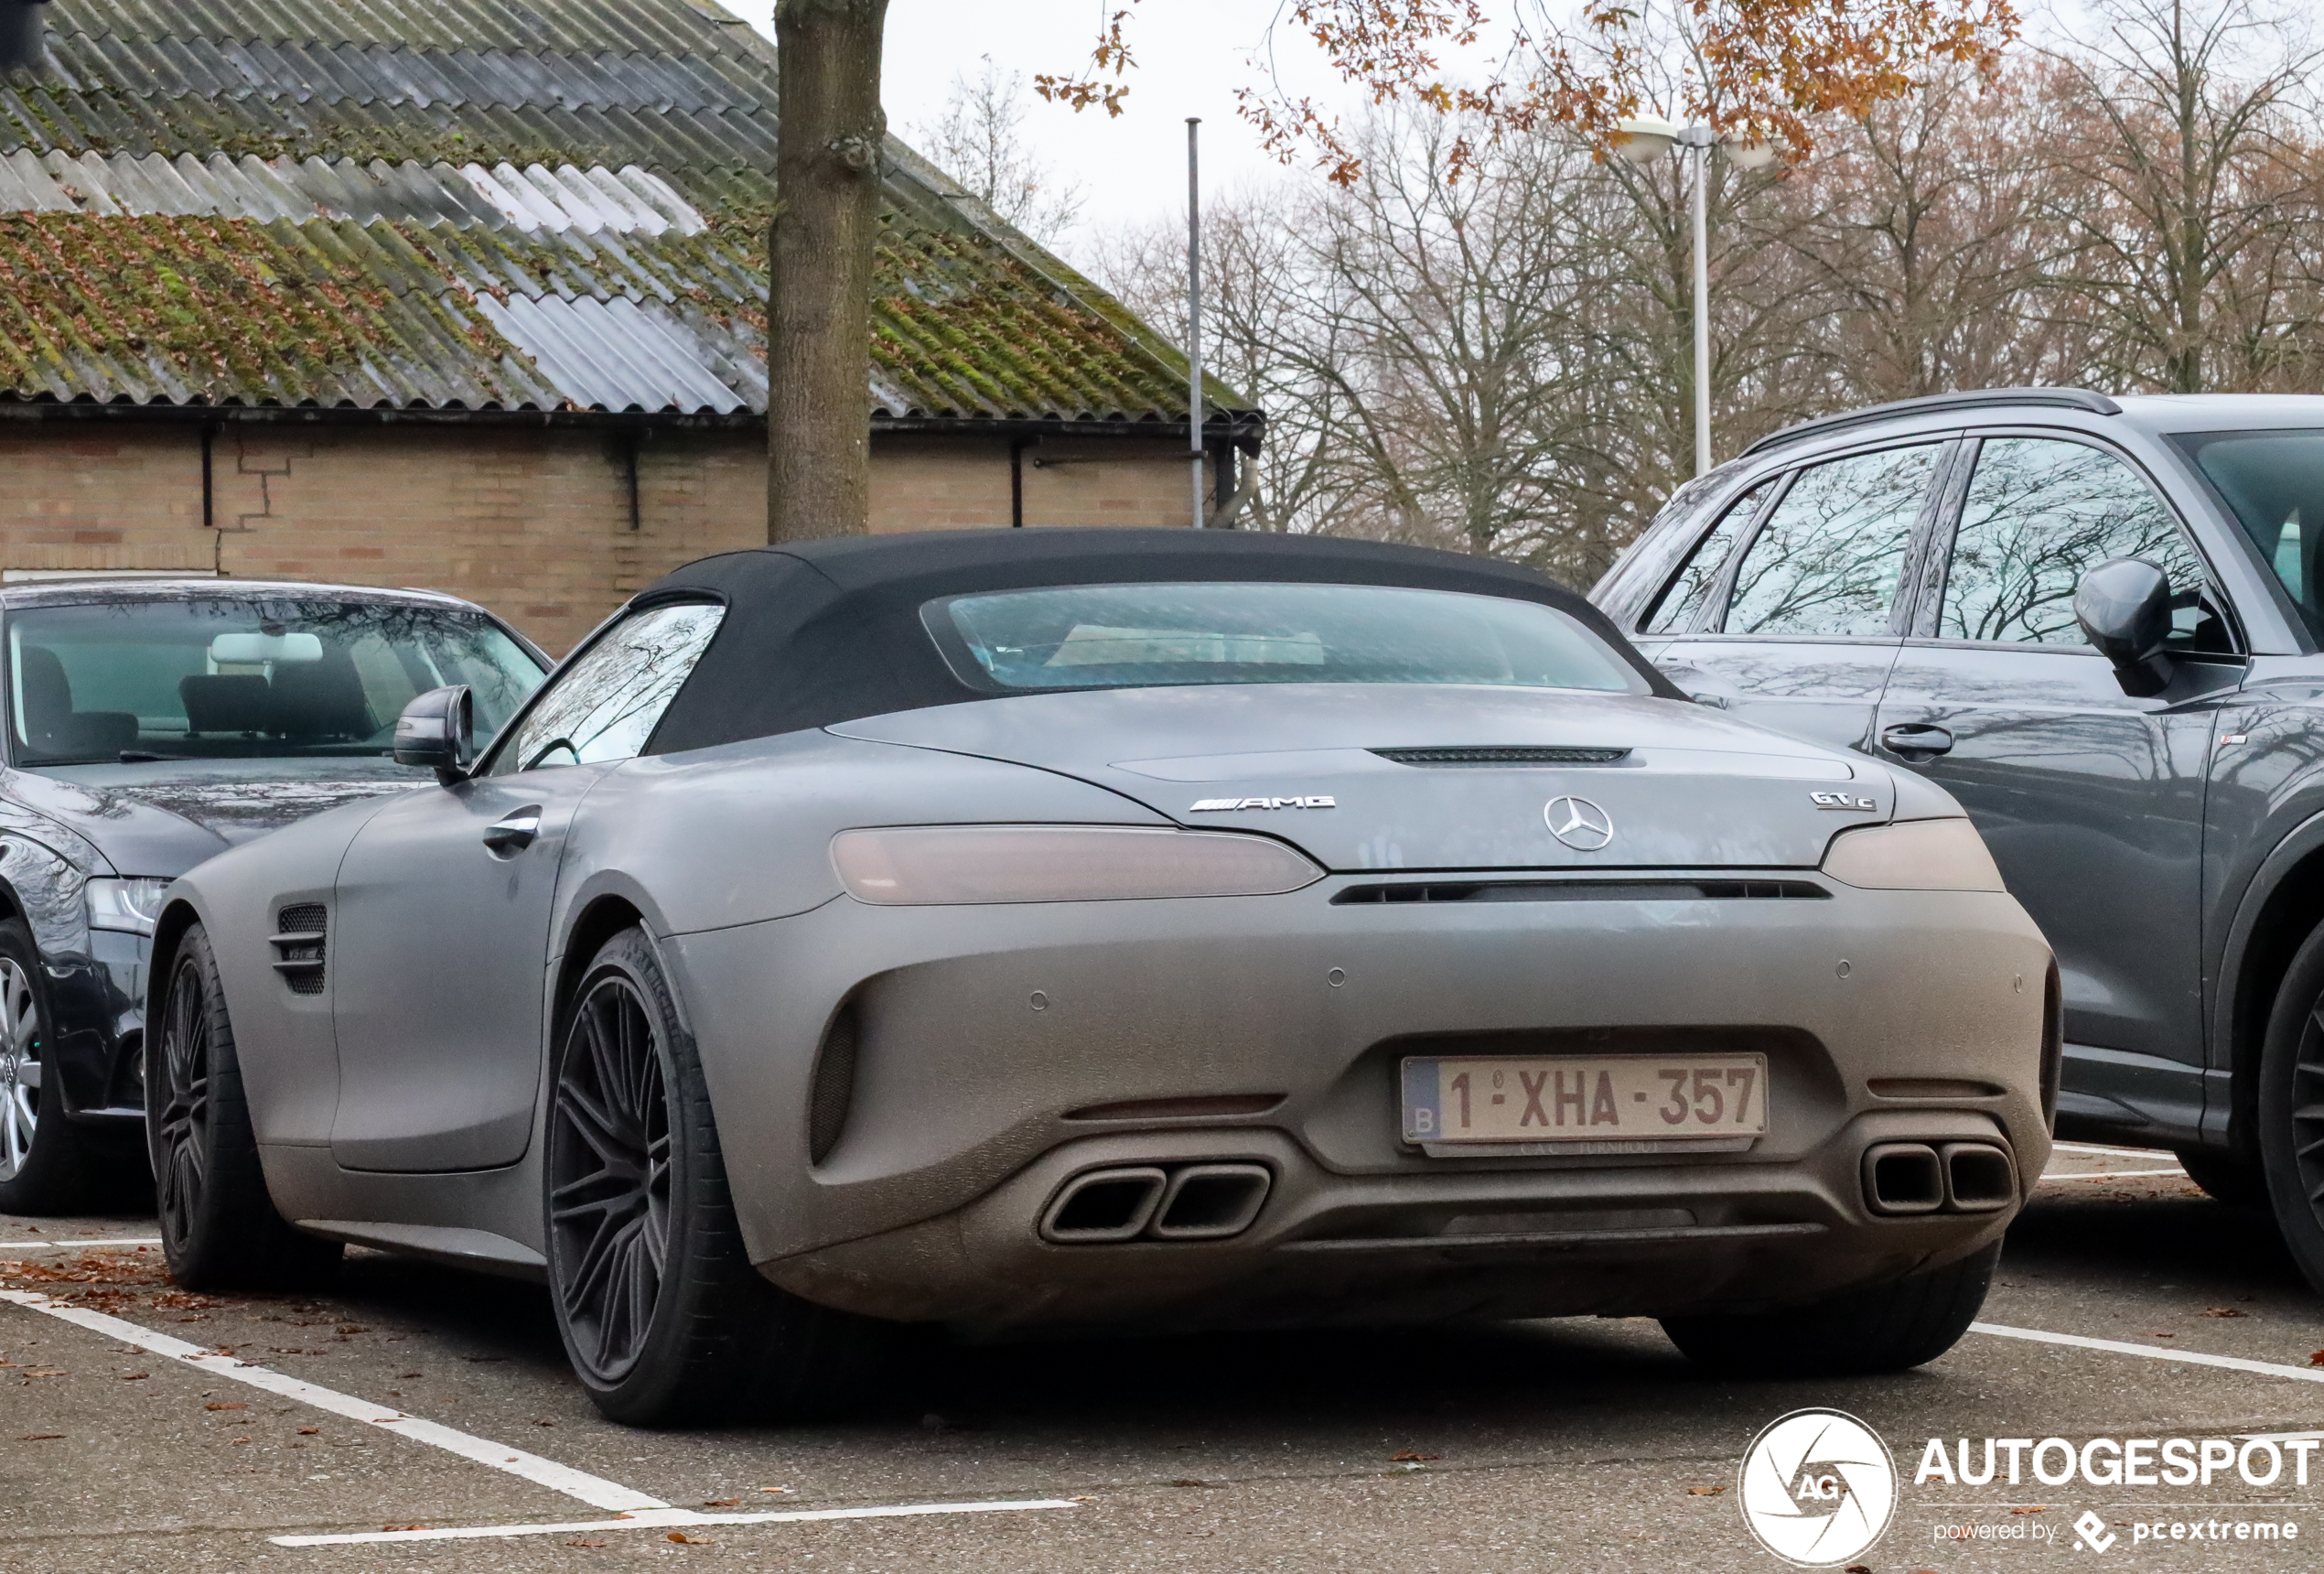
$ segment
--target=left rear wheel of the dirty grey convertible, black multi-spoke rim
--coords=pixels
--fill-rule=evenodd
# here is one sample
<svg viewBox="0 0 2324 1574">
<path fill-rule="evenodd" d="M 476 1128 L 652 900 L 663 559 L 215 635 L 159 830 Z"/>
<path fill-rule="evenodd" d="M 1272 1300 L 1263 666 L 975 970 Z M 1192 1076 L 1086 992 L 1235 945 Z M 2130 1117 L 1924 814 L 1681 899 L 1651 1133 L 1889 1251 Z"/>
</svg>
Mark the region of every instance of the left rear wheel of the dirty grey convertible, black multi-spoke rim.
<svg viewBox="0 0 2324 1574">
<path fill-rule="evenodd" d="M 702 1063 L 641 930 L 560 1011 L 544 1193 L 565 1353 L 614 1421 L 799 1416 L 869 1379 L 876 1325 L 751 1267 Z"/>
</svg>

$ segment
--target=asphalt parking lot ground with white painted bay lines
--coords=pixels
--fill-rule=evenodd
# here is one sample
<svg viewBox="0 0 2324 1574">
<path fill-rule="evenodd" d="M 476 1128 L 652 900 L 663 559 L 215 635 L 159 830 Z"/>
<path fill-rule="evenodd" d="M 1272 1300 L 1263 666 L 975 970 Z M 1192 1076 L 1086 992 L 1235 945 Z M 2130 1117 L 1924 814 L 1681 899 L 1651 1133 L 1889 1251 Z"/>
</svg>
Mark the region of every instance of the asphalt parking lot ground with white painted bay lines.
<svg viewBox="0 0 2324 1574">
<path fill-rule="evenodd" d="M 841 1423 L 634 1432 L 523 1283 L 351 1253 L 325 1295 L 188 1295 L 151 1218 L 0 1216 L 0 1295 L 9 1574 L 1773 1574 L 1738 1472 L 1806 1407 L 1894 1455 L 1862 1569 L 2324 1560 L 2324 1300 L 2166 1153 L 2064 1146 L 1978 1332 L 1875 1381 L 1706 1379 L 1650 1321 L 1562 1318 L 937 1346 Z M 2020 1483 L 1948 1483 L 1931 1439 L 1954 1474 L 2027 1439 Z M 2136 1439 L 2210 1486 L 2094 1486 Z M 2066 1448 L 2085 1474 L 2036 1481 Z"/>
</svg>

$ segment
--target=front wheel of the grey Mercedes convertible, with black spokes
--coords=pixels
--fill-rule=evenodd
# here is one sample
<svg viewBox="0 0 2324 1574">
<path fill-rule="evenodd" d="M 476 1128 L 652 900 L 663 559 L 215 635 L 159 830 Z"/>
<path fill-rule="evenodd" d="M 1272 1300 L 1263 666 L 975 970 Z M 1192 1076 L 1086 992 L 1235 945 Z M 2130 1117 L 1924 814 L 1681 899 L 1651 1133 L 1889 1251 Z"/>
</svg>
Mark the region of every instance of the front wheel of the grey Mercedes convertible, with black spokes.
<svg viewBox="0 0 2324 1574">
<path fill-rule="evenodd" d="M 146 1146 L 163 1253 L 188 1290 L 295 1290 L 339 1267 L 344 1246 L 293 1230 L 267 1195 L 235 1023 L 200 925 L 179 939 L 146 1025 Z"/>
</svg>

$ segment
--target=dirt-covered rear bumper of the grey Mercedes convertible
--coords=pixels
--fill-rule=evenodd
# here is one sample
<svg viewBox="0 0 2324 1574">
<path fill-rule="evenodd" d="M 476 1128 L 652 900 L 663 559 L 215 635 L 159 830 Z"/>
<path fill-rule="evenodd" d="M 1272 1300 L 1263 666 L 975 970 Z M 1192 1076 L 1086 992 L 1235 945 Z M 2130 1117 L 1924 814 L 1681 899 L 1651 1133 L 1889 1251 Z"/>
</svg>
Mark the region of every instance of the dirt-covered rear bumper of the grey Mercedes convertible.
<svg viewBox="0 0 2324 1574">
<path fill-rule="evenodd" d="M 2050 953 L 2010 897 L 1332 904 L 1346 883 L 839 900 L 672 937 L 753 1260 L 825 1304 L 976 1328 L 1741 1309 L 1968 1253 L 2015 1214 L 1880 1216 L 1873 1144 L 2001 1146 L 2020 1200 L 2047 1160 Z M 844 1004 L 846 1121 L 811 1162 Z M 1446 1049 L 1752 1049 L 1771 1128 L 1743 1153 L 1429 1158 L 1394 1065 Z M 1204 1097 L 1253 1114 L 1155 1109 Z M 1195 1162 L 1267 1169 L 1248 1230 L 1041 1237 L 1076 1174 Z"/>
</svg>

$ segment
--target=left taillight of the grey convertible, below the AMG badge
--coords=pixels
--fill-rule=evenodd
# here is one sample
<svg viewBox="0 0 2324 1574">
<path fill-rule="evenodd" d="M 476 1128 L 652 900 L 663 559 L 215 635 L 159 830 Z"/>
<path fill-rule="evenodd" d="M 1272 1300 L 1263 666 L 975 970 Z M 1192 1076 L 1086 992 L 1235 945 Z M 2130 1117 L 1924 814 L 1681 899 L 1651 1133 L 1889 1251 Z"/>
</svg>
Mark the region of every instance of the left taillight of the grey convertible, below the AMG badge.
<svg viewBox="0 0 2324 1574">
<path fill-rule="evenodd" d="M 874 907 L 1255 897 L 1322 879 L 1267 837 L 1134 825 L 841 830 L 832 867 L 851 897 Z"/>
</svg>

